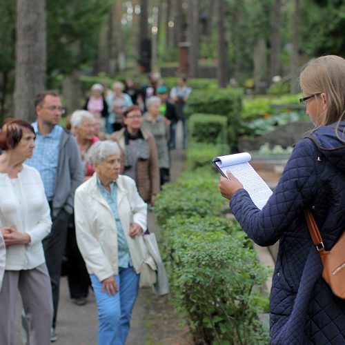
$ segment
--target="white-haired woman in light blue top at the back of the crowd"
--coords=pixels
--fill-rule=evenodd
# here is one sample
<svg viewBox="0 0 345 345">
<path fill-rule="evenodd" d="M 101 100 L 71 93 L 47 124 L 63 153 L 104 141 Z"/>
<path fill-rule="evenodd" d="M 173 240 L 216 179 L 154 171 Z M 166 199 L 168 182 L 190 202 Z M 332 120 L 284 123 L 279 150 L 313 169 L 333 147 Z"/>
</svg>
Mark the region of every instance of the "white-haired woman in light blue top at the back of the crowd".
<svg viewBox="0 0 345 345">
<path fill-rule="evenodd" d="M 107 132 L 112 133 L 121 130 L 122 115 L 128 106 L 132 106 L 133 102 L 129 95 L 124 93 L 124 84 L 121 81 L 115 81 L 112 84 L 114 91 L 107 99 L 110 115 L 108 118 Z"/>
</svg>

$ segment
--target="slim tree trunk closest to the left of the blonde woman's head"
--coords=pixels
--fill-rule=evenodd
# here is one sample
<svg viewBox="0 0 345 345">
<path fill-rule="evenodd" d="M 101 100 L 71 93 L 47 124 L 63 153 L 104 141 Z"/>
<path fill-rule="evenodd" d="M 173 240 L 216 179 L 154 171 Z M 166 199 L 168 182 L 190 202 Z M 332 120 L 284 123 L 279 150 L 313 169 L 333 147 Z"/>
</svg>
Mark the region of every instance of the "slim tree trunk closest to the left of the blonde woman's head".
<svg viewBox="0 0 345 345">
<path fill-rule="evenodd" d="M 300 8 L 299 0 L 295 0 L 295 14 L 293 17 L 293 48 L 291 52 L 291 83 L 290 83 L 290 94 L 295 95 L 299 92 L 298 86 L 298 75 L 299 75 L 299 53 L 298 53 L 298 41 L 299 41 L 299 19 L 300 19 Z"/>
</svg>

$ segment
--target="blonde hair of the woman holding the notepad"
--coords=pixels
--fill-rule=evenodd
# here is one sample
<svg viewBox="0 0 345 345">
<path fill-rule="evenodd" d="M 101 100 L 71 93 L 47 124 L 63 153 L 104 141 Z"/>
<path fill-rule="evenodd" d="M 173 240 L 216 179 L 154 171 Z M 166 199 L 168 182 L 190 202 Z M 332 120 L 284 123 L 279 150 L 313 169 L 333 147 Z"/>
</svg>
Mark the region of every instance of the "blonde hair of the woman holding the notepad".
<svg viewBox="0 0 345 345">
<path fill-rule="evenodd" d="M 325 92 L 327 107 L 318 126 L 345 120 L 345 59 L 336 55 L 318 57 L 299 76 L 303 92 L 313 95 Z"/>
</svg>

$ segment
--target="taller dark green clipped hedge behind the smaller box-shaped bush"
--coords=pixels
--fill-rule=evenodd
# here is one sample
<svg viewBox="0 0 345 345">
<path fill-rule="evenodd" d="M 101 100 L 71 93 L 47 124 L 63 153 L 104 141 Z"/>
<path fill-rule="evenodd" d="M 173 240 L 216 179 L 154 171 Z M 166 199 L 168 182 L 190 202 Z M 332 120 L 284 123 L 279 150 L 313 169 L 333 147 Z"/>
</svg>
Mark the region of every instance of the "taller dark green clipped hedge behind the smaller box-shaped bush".
<svg viewBox="0 0 345 345">
<path fill-rule="evenodd" d="M 186 112 L 188 115 L 204 113 L 226 115 L 228 118 L 228 143 L 237 143 L 237 130 L 241 123 L 243 92 L 239 89 L 198 90 L 190 94 Z"/>
</svg>

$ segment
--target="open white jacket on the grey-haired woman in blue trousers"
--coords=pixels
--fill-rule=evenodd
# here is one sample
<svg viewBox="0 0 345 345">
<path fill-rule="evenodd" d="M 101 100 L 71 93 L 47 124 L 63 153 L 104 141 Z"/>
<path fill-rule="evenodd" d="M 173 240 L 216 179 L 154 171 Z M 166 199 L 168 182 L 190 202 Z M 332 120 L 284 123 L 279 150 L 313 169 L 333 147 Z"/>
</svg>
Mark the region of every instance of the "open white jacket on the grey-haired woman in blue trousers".
<svg viewBox="0 0 345 345">
<path fill-rule="evenodd" d="M 147 257 L 141 235 L 129 236 L 131 223 L 146 230 L 147 205 L 139 196 L 135 181 L 119 175 L 117 183 L 117 210 L 132 264 L 140 273 L 141 264 Z M 77 244 L 88 268 L 88 273 L 97 275 L 99 281 L 119 273 L 117 260 L 117 227 L 112 210 L 97 186 L 95 174 L 79 186 L 75 192 L 75 228 Z"/>
</svg>

